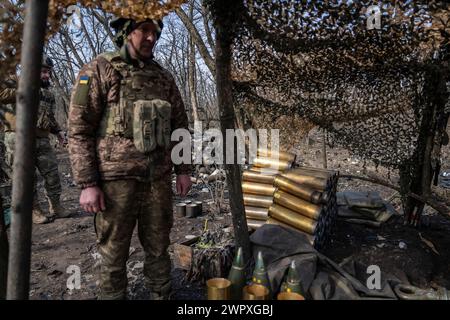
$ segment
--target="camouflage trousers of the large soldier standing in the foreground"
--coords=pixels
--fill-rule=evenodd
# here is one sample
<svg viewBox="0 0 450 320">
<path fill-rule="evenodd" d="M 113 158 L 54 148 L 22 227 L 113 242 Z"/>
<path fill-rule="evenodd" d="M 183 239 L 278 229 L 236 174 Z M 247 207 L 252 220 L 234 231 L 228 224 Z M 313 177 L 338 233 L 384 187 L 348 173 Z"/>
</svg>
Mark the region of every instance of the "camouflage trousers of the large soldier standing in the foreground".
<svg viewBox="0 0 450 320">
<path fill-rule="evenodd" d="M 151 292 L 170 286 L 171 262 L 167 249 L 173 225 L 170 177 L 158 181 L 103 181 L 106 211 L 95 216 L 97 246 L 101 255 L 100 299 L 124 299 L 126 263 L 137 224 L 145 252 L 144 277 Z"/>
</svg>

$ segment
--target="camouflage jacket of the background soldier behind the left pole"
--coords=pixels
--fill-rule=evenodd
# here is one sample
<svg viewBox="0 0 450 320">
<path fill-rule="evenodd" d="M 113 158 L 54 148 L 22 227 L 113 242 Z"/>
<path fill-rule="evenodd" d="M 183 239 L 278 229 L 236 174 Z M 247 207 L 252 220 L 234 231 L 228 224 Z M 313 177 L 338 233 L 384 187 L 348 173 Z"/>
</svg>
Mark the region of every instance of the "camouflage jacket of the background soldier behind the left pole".
<svg viewBox="0 0 450 320">
<path fill-rule="evenodd" d="M 5 131 L 16 130 L 16 88 L 17 77 L 11 77 L 0 87 L 0 119 Z M 55 96 L 51 89 L 41 88 L 39 91 L 38 136 L 61 131 L 55 119 Z"/>
</svg>

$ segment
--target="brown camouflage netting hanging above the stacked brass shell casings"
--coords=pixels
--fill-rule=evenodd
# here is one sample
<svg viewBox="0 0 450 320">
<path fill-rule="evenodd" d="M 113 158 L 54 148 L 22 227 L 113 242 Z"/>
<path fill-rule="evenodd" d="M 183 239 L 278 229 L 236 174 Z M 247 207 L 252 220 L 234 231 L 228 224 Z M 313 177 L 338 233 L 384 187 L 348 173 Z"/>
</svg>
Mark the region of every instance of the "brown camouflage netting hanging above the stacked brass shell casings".
<svg viewBox="0 0 450 320">
<path fill-rule="evenodd" d="M 400 2 L 384 1 L 377 25 L 378 1 L 243 0 L 236 105 L 272 123 L 301 115 L 333 143 L 401 169 L 411 183 L 444 117 L 450 7 Z"/>
</svg>

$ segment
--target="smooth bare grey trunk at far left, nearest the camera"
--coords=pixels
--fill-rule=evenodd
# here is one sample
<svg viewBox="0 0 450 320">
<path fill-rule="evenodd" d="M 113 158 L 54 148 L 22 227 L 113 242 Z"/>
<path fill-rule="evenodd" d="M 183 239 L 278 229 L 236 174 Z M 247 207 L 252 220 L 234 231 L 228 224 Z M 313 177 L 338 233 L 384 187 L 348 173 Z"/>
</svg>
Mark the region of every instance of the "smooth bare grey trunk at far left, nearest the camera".
<svg viewBox="0 0 450 320">
<path fill-rule="evenodd" d="M 11 250 L 7 298 L 27 300 L 30 287 L 31 210 L 39 105 L 41 59 L 48 0 L 27 0 L 23 33 L 22 74 L 17 90 L 17 129 L 14 157 Z"/>
</svg>

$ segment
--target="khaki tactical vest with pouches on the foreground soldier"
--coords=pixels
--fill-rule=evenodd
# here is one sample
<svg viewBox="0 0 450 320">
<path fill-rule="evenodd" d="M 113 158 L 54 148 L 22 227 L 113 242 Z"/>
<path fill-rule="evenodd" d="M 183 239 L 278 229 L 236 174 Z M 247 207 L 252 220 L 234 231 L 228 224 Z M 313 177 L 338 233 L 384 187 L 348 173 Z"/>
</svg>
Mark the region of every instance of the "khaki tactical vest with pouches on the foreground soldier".
<svg viewBox="0 0 450 320">
<path fill-rule="evenodd" d="M 132 139 L 136 148 L 148 154 L 157 146 L 169 148 L 171 104 L 161 99 L 158 70 L 127 64 L 120 53 L 101 55 L 121 75 L 119 102 L 108 103 L 98 135 Z"/>
</svg>

